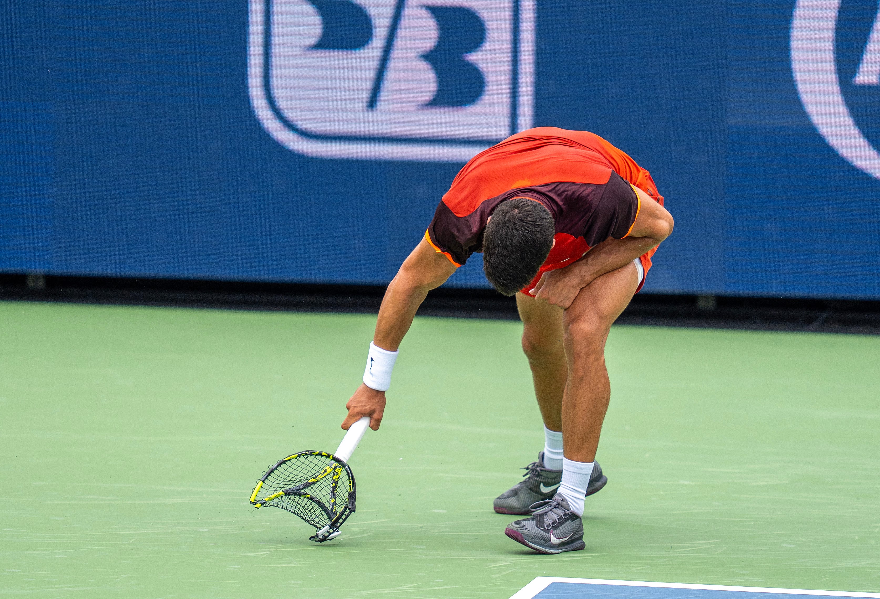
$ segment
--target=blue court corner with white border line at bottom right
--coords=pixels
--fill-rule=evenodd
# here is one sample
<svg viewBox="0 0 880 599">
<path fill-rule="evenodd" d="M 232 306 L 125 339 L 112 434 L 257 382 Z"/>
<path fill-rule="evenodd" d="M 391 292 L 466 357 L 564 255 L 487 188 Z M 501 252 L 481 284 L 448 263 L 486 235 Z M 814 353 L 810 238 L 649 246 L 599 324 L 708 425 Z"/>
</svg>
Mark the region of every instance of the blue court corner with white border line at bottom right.
<svg viewBox="0 0 880 599">
<path fill-rule="evenodd" d="M 832 599 L 832 597 L 880 599 L 880 594 L 539 576 L 510 599 L 587 599 L 588 597 L 590 599 Z"/>
</svg>

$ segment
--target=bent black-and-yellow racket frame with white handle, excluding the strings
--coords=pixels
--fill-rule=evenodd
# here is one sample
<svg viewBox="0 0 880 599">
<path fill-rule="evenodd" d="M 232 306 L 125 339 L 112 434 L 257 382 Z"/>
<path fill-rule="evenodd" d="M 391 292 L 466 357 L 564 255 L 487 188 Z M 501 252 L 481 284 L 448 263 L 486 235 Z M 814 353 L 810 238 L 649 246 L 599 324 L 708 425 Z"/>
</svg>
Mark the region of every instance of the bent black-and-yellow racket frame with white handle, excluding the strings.
<svg viewBox="0 0 880 599">
<path fill-rule="evenodd" d="M 261 508 L 263 506 L 270 505 L 277 508 L 286 509 L 290 513 L 297 515 L 305 522 L 308 522 L 312 524 L 312 526 L 315 526 L 315 534 L 312 537 L 309 537 L 310 540 L 314 541 L 315 543 L 324 543 L 325 541 L 329 541 L 330 539 L 339 536 L 342 523 L 348 519 L 349 515 L 352 515 L 355 512 L 356 505 L 355 475 L 352 473 L 351 468 L 348 466 L 346 461 L 351 457 L 352 453 L 354 453 L 358 442 L 361 441 L 361 439 L 363 438 L 363 434 L 366 432 L 369 426 L 370 418 L 366 416 L 363 417 L 361 420 L 358 420 L 355 424 L 351 425 L 351 427 L 348 428 L 348 433 L 346 433 L 345 437 L 342 439 L 339 448 L 336 449 L 335 454 L 330 454 L 326 451 L 316 451 L 310 449 L 306 451 L 299 451 L 295 454 L 292 454 L 288 457 L 283 457 L 282 459 L 278 460 L 278 462 L 274 466 L 271 466 L 268 471 L 263 474 L 262 478 L 257 481 L 257 486 L 254 487 L 253 493 L 251 493 L 250 501 L 253 506 L 255 506 L 256 508 Z M 289 488 L 282 489 L 281 491 L 276 491 L 275 493 L 271 493 L 263 497 L 262 499 L 259 499 L 260 489 L 266 483 L 268 478 L 272 477 L 275 471 L 277 471 L 279 468 L 290 465 L 291 460 L 302 458 L 305 458 L 306 460 L 322 458 L 326 461 L 329 461 L 330 464 L 325 465 L 320 471 L 315 472 L 312 476 L 305 479 L 303 482 L 299 483 L 296 486 L 291 486 Z M 316 497 L 314 493 L 310 493 L 310 487 L 316 484 L 323 486 L 326 483 L 327 477 L 330 477 L 331 481 L 329 490 L 329 506 L 326 504 L 326 501 L 319 499 L 319 497 Z M 341 479 L 342 485 L 347 488 L 339 488 Z M 348 484 L 346 484 L 346 482 Z M 278 487 L 275 486 L 275 488 Z M 299 499 L 310 501 L 316 508 L 319 508 L 320 512 L 323 515 L 326 516 L 326 525 L 320 527 L 321 522 L 317 522 L 314 517 L 299 513 L 293 508 L 290 508 L 290 506 L 288 505 L 284 505 L 281 503 L 272 503 L 273 500 L 284 496 L 297 497 Z"/>
</svg>

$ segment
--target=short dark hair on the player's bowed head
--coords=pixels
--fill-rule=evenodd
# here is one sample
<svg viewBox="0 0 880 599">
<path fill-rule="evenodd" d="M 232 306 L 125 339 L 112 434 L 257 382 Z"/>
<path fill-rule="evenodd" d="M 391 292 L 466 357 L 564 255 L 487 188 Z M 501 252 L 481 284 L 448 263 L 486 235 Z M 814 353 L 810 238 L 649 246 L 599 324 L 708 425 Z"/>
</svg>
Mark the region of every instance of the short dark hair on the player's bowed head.
<svg viewBox="0 0 880 599">
<path fill-rule="evenodd" d="M 553 215 L 538 201 L 514 198 L 495 208 L 483 231 L 483 270 L 499 293 L 529 284 L 553 247 Z"/>
</svg>

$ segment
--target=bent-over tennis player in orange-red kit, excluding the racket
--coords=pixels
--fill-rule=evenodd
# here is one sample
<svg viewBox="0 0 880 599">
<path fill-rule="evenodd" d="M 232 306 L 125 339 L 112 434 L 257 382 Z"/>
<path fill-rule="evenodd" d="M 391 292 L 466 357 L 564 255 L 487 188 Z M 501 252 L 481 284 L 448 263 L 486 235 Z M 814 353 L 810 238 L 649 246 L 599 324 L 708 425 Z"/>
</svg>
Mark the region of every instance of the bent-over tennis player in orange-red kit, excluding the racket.
<svg viewBox="0 0 880 599">
<path fill-rule="evenodd" d="M 671 231 L 649 172 L 598 135 L 532 128 L 481 152 L 458 172 L 385 291 L 342 428 L 370 416 L 378 429 L 415 311 L 482 252 L 488 281 L 517 296 L 545 434 L 538 461 L 495 511 L 529 515 L 505 534 L 537 552 L 583 549 L 584 498 L 607 482 L 596 463 L 611 398 L 605 340 Z"/>
</svg>

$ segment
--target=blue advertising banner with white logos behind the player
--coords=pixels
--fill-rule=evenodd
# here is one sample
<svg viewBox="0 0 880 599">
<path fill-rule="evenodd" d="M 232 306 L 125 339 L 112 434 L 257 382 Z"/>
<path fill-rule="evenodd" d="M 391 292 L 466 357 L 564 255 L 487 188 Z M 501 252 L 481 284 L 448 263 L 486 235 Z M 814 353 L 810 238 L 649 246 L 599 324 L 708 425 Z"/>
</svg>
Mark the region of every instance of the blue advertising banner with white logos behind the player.
<svg viewBox="0 0 880 599">
<path fill-rule="evenodd" d="M 876 0 L 9 0 L 0 271 L 382 284 L 533 126 L 649 169 L 645 290 L 880 298 Z M 479 255 L 450 285 L 487 286 Z"/>
</svg>

